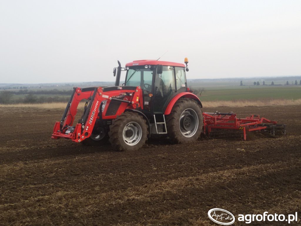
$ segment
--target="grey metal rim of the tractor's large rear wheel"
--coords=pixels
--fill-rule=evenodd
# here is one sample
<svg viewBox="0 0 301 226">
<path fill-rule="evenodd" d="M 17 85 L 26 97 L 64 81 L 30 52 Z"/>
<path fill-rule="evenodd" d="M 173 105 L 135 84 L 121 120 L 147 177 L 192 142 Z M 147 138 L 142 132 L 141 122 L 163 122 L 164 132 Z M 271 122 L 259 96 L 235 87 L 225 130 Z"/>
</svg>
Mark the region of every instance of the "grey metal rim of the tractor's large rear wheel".
<svg viewBox="0 0 301 226">
<path fill-rule="evenodd" d="M 199 126 L 199 117 L 197 113 L 188 108 L 184 110 L 180 116 L 179 127 L 182 135 L 184 137 L 192 137 L 196 132 Z"/>
</svg>

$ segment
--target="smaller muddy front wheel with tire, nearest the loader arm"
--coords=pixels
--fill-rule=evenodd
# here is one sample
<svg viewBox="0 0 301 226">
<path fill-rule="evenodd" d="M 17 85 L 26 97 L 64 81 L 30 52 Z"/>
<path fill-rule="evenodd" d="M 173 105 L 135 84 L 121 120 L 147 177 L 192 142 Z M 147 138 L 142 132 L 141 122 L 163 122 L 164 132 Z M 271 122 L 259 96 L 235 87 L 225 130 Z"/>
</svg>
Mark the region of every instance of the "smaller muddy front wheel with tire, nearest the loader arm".
<svg viewBox="0 0 301 226">
<path fill-rule="evenodd" d="M 125 112 L 110 125 L 109 141 L 116 151 L 138 150 L 147 140 L 147 124 L 134 112 Z"/>
</svg>

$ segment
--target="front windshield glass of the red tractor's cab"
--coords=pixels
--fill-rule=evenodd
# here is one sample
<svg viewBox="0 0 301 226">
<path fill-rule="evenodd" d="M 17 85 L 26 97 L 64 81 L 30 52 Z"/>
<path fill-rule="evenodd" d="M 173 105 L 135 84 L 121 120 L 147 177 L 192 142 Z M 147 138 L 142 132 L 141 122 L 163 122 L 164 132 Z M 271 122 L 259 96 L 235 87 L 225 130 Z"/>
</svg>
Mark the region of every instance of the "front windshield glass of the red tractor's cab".
<svg viewBox="0 0 301 226">
<path fill-rule="evenodd" d="M 126 72 L 126 86 L 141 86 L 145 88 L 144 84 L 152 84 L 153 69 L 144 68 L 144 66 L 131 67 Z M 147 86 L 148 87 L 148 86 Z"/>
</svg>

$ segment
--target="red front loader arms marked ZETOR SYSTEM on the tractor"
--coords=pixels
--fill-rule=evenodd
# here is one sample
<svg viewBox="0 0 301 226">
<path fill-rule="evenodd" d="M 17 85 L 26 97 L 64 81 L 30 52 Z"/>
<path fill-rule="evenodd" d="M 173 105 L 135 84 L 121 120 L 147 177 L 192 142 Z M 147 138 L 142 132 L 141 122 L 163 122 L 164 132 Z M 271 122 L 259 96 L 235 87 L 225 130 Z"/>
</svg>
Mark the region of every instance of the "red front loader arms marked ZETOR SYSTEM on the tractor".
<svg viewBox="0 0 301 226">
<path fill-rule="evenodd" d="M 140 86 L 124 87 L 74 87 L 73 93 L 64 111 L 60 122 L 56 122 L 51 138 L 69 138 L 75 142 L 81 142 L 90 137 L 97 118 L 107 121 L 113 120 L 122 114 L 126 108 L 143 108 L 142 91 Z M 124 95 L 120 95 L 120 93 Z M 73 126 L 79 102 L 86 99 L 85 109 L 79 122 Z M 106 114 L 111 102 L 119 102 L 119 108 L 113 115 Z M 104 109 L 102 105 L 106 104 Z"/>
</svg>

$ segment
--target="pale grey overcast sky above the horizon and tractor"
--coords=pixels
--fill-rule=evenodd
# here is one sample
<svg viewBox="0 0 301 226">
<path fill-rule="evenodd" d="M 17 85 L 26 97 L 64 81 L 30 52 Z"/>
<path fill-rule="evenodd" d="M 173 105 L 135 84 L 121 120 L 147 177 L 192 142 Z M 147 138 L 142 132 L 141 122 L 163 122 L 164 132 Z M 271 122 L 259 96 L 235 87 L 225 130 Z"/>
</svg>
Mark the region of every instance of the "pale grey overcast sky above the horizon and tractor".
<svg viewBox="0 0 301 226">
<path fill-rule="evenodd" d="M 0 0 L 0 83 L 113 81 L 183 62 L 188 78 L 301 74 L 301 1 Z"/>
</svg>

